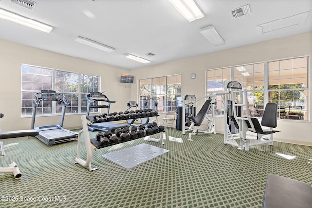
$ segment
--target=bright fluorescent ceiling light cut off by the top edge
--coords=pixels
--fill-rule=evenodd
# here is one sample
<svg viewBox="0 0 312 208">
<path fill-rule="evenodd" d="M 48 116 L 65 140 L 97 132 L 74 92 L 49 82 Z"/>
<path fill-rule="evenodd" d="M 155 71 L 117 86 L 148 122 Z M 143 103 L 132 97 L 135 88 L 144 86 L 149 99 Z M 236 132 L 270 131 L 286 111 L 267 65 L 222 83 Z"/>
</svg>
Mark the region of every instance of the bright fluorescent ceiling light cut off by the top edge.
<svg viewBox="0 0 312 208">
<path fill-rule="evenodd" d="M 193 0 L 169 0 L 189 22 L 204 17 Z"/>
</svg>

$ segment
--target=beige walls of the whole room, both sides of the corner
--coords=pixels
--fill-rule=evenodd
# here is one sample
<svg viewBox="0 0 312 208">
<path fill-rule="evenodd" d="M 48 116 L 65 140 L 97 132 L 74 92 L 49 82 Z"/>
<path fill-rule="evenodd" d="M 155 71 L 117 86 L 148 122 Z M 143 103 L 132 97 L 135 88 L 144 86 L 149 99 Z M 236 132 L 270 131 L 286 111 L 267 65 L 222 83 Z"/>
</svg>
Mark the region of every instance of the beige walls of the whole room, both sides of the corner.
<svg viewBox="0 0 312 208">
<path fill-rule="evenodd" d="M 31 125 L 31 118 L 21 118 L 20 116 L 21 64 L 101 76 L 101 90 L 106 91 L 109 99 L 116 100 L 116 103 L 112 104 L 111 110 L 120 111 L 126 109 L 126 103 L 129 100 L 138 100 L 138 79 L 181 73 L 182 95 L 193 94 L 200 98 L 205 95 L 206 70 L 311 55 L 312 32 L 134 70 L 69 57 L 3 40 L 0 40 L 0 49 L 0 95 L 2 96 L 0 113 L 5 114 L 1 119 L 1 125 L 3 131 L 9 131 L 29 129 Z M 311 66 L 311 58 L 309 64 Z M 190 78 L 192 72 L 197 74 L 195 79 Z M 135 84 L 121 84 L 119 82 L 120 74 L 135 75 Z M 311 80 L 311 73 L 309 75 Z M 311 88 L 311 84 L 309 87 Z M 309 98 L 308 105 L 311 110 L 311 91 Z M 200 103 L 198 105 L 201 106 Z M 163 116 L 163 114 L 160 116 L 159 121 Z M 277 129 L 281 132 L 274 135 L 275 140 L 312 144 L 310 120 L 311 113 L 309 122 L 278 121 Z M 35 126 L 58 123 L 59 116 L 38 117 Z M 64 127 L 80 128 L 80 115 L 66 115 Z M 216 118 L 216 129 L 218 133 L 223 133 L 223 118 Z"/>
</svg>

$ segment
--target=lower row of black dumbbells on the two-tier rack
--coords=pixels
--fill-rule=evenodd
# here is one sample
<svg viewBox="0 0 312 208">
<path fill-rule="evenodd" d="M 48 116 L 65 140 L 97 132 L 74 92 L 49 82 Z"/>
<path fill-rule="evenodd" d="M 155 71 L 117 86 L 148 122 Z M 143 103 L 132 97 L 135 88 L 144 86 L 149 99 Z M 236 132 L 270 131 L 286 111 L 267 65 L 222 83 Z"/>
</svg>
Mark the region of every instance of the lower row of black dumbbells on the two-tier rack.
<svg viewBox="0 0 312 208">
<path fill-rule="evenodd" d="M 146 128 L 142 124 L 138 127 L 132 126 L 131 129 L 128 127 L 124 127 L 123 129 L 118 128 L 114 132 L 115 135 L 110 131 L 98 132 L 95 139 L 98 141 L 98 147 L 104 147 L 164 132 L 164 129 L 163 126 L 158 126 L 157 123 L 154 122 L 147 124 Z"/>
</svg>

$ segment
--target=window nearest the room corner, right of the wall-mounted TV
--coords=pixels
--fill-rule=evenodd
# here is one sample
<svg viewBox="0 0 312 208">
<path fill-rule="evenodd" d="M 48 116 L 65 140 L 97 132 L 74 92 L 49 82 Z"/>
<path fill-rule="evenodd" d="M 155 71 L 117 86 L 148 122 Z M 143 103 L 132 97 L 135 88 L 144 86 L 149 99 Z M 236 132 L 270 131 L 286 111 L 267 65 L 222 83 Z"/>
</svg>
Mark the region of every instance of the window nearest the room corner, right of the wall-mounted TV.
<svg viewBox="0 0 312 208">
<path fill-rule="evenodd" d="M 140 109 L 176 111 L 176 97 L 181 96 L 181 75 L 141 79 L 139 88 Z"/>
</svg>

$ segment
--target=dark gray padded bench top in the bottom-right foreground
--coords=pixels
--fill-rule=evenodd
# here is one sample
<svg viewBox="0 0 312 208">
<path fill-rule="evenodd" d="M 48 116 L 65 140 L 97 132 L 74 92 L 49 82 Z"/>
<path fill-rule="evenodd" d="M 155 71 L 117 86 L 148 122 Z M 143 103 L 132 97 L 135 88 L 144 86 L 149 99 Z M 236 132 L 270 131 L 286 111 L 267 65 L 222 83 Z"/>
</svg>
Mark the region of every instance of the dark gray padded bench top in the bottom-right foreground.
<svg viewBox="0 0 312 208">
<path fill-rule="evenodd" d="M 269 174 L 262 208 L 312 208 L 310 184 Z"/>
</svg>

